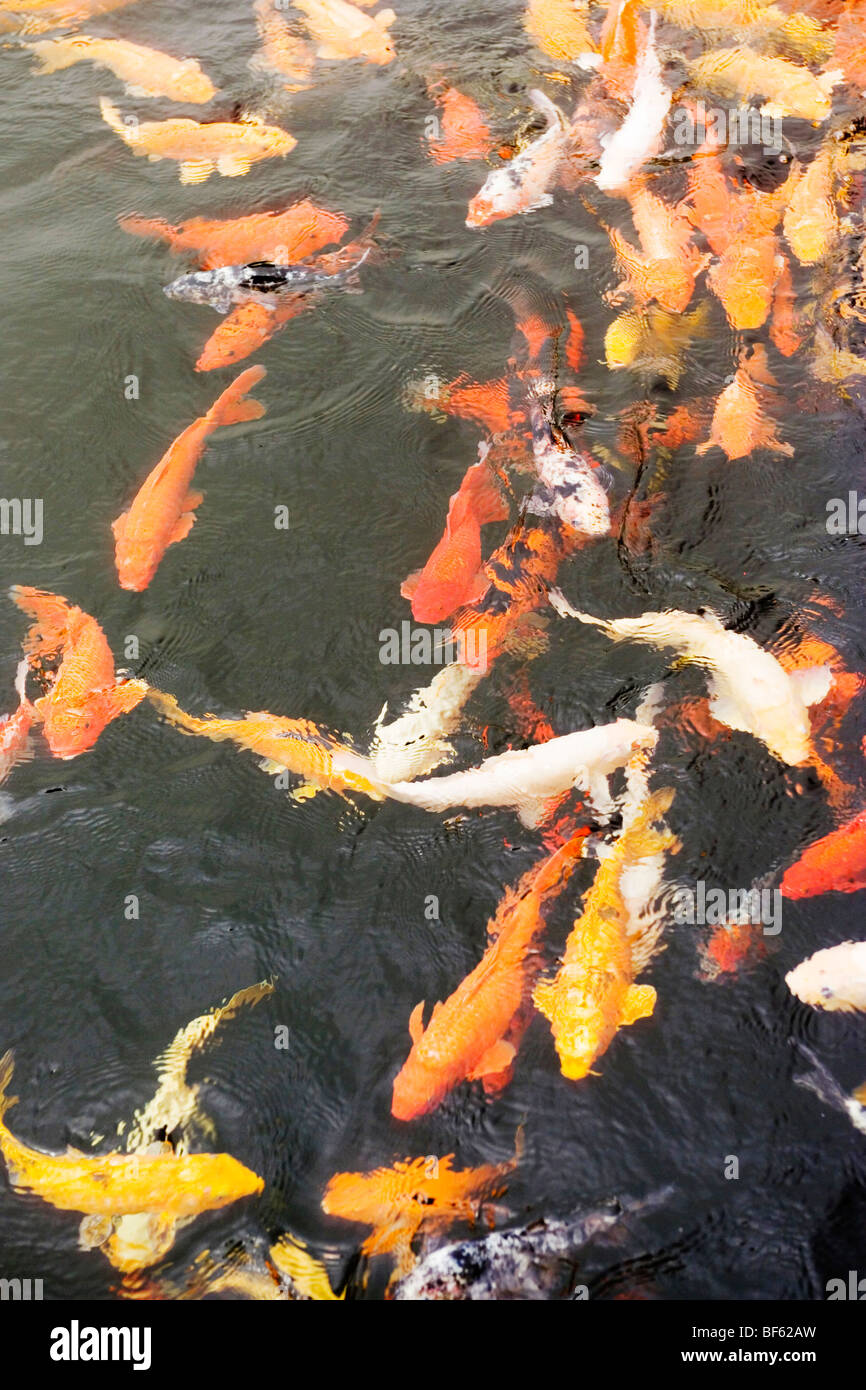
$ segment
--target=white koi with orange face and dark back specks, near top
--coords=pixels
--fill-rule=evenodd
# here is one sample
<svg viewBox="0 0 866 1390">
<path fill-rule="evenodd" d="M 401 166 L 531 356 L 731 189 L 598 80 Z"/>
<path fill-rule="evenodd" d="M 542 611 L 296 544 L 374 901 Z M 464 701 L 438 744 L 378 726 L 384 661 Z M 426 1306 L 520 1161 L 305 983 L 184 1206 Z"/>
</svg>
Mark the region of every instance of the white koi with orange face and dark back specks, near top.
<svg viewBox="0 0 866 1390">
<path fill-rule="evenodd" d="M 546 117 L 548 129 L 502 168 L 488 174 L 468 204 L 467 227 L 489 227 L 505 217 L 517 217 L 553 202 L 549 192 L 570 147 L 570 125 L 544 92 L 530 92 L 532 106 Z"/>
</svg>

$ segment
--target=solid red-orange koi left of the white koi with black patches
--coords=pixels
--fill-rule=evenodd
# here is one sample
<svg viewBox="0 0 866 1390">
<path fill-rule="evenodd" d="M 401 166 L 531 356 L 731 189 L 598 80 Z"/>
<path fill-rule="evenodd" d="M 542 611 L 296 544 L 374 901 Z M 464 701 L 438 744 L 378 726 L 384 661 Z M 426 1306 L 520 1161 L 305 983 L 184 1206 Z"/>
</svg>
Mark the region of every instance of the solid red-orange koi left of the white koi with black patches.
<svg viewBox="0 0 866 1390">
<path fill-rule="evenodd" d="M 418 623 L 439 623 L 461 603 L 474 603 L 489 585 L 481 569 L 481 527 L 503 521 L 509 509 L 485 461 L 487 453 L 488 448 L 480 445 L 478 463 L 467 470 L 450 499 L 442 539 L 424 569 L 400 585 Z"/>
</svg>

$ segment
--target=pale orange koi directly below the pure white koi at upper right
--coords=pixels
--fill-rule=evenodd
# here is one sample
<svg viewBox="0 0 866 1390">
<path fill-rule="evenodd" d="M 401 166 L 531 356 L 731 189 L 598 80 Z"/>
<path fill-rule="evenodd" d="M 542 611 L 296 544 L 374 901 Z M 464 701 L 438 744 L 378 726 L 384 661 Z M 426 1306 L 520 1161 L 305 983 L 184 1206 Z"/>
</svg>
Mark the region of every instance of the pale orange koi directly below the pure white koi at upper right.
<svg viewBox="0 0 866 1390">
<path fill-rule="evenodd" d="M 710 257 L 694 245 L 694 228 L 685 211 L 670 207 L 642 182 L 634 182 L 627 197 L 641 250 L 616 228 L 609 231 L 613 250 L 626 274 L 620 292 L 628 289 L 638 306 L 655 299 L 662 309 L 681 314 Z"/>
</svg>

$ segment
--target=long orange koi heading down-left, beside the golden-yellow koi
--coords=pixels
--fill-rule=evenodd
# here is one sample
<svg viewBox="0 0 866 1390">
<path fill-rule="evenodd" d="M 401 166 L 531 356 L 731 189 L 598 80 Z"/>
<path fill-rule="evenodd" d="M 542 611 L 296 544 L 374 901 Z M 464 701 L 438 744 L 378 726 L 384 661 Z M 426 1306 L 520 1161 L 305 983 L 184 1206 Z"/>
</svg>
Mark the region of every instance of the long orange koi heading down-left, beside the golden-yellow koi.
<svg viewBox="0 0 866 1390">
<path fill-rule="evenodd" d="M 393 1083 L 391 1113 L 413 1120 L 461 1081 L 499 1076 L 514 1061 L 510 1029 L 527 1001 L 531 952 L 544 908 L 564 888 L 581 858 L 587 830 L 530 869 L 488 923 L 491 944 L 481 962 L 423 1026 L 424 1001 L 409 1020 L 411 1052 Z"/>
</svg>

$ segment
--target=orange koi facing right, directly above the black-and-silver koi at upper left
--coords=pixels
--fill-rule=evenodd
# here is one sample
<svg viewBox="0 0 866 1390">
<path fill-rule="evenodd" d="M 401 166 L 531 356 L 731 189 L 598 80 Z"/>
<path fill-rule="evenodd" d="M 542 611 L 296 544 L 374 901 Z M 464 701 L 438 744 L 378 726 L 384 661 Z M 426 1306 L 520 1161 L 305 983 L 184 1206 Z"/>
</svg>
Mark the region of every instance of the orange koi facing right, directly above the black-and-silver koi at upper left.
<svg viewBox="0 0 866 1390">
<path fill-rule="evenodd" d="M 193 252 L 202 270 L 249 265 L 256 260 L 289 265 L 292 261 L 306 260 L 331 242 L 339 242 L 349 231 L 349 221 L 341 213 L 317 207 L 309 199 L 293 203 L 282 213 L 249 213 L 227 221 L 193 217 L 189 222 L 172 227 L 158 217 L 132 214 L 121 217 L 118 222 L 132 236 L 153 236 L 167 242 L 175 254 Z"/>
</svg>

